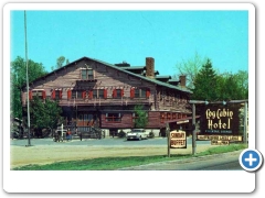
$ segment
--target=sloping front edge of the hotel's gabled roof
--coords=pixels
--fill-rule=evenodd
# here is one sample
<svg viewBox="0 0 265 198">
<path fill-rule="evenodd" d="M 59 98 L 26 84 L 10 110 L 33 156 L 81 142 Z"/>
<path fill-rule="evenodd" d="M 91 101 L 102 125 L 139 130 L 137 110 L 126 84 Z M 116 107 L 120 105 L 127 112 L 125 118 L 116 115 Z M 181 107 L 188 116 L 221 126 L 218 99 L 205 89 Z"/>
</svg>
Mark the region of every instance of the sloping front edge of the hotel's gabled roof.
<svg viewBox="0 0 265 198">
<path fill-rule="evenodd" d="M 94 61 L 94 62 L 100 63 L 100 64 L 106 65 L 106 66 L 108 66 L 108 67 L 110 67 L 110 68 L 114 68 L 114 69 L 116 69 L 116 70 L 119 70 L 119 72 L 121 72 L 121 73 L 126 73 L 126 74 L 128 74 L 128 75 L 130 75 L 130 76 L 140 78 L 140 79 L 142 79 L 142 80 L 146 80 L 146 81 L 149 81 L 149 82 L 152 82 L 152 84 L 162 86 L 162 87 L 167 87 L 167 88 L 171 88 L 171 89 L 176 89 L 176 90 L 180 90 L 180 91 L 184 91 L 184 92 L 192 94 L 192 91 L 191 91 L 190 89 L 186 88 L 186 87 L 178 87 L 178 86 L 173 86 L 173 85 L 170 85 L 170 84 L 167 84 L 167 82 L 159 81 L 159 80 L 157 80 L 157 79 L 155 79 L 155 78 L 153 78 L 153 79 L 152 79 L 152 78 L 148 78 L 148 77 L 146 77 L 146 76 L 141 76 L 141 75 L 131 73 L 131 72 L 129 72 L 129 70 L 127 70 L 127 69 L 125 69 L 125 68 L 120 68 L 120 67 L 118 67 L 118 66 L 115 66 L 115 65 L 113 65 L 113 64 L 109 64 L 109 63 L 106 63 L 106 62 L 103 62 L 103 61 L 98 61 L 98 59 L 95 59 L 95 58 L 89 58 L 89 57 L 86 57 L 86 56 L 85 56 L 85 57 L 82 57 L 82 58 L 80 58 L 80 59 L 76 59 L 75 62 L 72 62 L 72 63 L 70 63 L 70 64 L 67 64 L 67 65 L 65 65 L 65 66 L 63 66 L 63 67 L 61 67 L 61 68 L 59 68 L 59 69 L 55 69 L 55 70 L 53 70 L 53 72 L 51 72 L 51 73 L 49 73 L 49 74 L 46 74 L 46 75 L 44 75 L 44 76 L 42 76 L 42 77 L 40 77 L 40 78 L 36 78 L 36 79 L 33 80 L 32 82 L 38 81 L 38 80 L 43 79 L 43 78 L 46 78 L 47 76 L 51 76 L 51 75 L 53 75 L 54 73 L 57 73 L 57 72 L 63 70 L 63 69 L 65 69 L 65 68 L 67 68 L 67 67 L 71 67 L 73 64 L 76 64 L 77 62 L 85 61 L 85 59 L 89 59 L 89 61 Z M 25 87 L 25 85 L 24 85 L 23 87 Z"/>
</svg>

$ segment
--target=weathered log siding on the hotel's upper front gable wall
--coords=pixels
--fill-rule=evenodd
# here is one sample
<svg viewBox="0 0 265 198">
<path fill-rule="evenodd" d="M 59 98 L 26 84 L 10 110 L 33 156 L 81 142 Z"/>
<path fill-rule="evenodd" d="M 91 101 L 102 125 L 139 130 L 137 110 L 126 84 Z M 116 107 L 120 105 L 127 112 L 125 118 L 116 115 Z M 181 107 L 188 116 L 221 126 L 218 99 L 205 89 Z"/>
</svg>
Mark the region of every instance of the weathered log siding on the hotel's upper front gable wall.
<svg viewBox="0 0 265 198">
<path fill-rule="evenodd" d="M 81 80 L 81 70 L 86 65 L 95 70 L 96 80 Z M 113 106 L 113 105 L 134 105 L 134 103 L 149 103 L 153 106 L 155 98 L 155 85 L 139 80 L 136 77 L 129 76 L 116 69 L 109 68 L 103 64 L 96 62 L 81 62 L 73 67 L 67 67 L 60 72 L 53 73 L 45 79 L 41 79 L 38 82 L 31 84 L 31 90 L 45 91 L 46 98 L 52 98 L 53 90 L 62 91 L 62 99 L 60 99 L 60 106 Z M 149 88 L 149 98 L 130 98 L 130 88 Z M 107 91 L 107 98 L 91 99 L 88 97 L 88 90 L 91 89 L 105 89 Z M 115 89 L 123 89 L 121 98 L 113 98 Z M 85 90 L 85 98 L 68 99 L 68 90 Z M 22 94 L 22 105 L 26 105 L 26 90 Z M 155 106 L 152 107 L 155 109 Z"/>
</svg>

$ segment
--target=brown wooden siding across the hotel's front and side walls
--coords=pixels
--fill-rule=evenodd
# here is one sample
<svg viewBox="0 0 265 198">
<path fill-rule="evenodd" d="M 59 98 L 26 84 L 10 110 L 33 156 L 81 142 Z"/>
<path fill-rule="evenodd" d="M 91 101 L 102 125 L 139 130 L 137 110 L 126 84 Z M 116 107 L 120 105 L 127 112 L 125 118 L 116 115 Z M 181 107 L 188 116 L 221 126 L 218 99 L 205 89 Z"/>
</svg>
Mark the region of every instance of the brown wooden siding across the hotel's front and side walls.
<svg viewBox="0 0 265 198">
<path fill-rule="evenodd" d="M 94 79 L 82 80 L 82 69 L 86 68 L 93 69 Z M 189 95 L 186 92 L 157 86 L 89 59 L 82 59 L 76 64 L 73 63 L 72 66 L 51 73 L 46 77 L 34 81 L 34 84 L 30 84 L 30 88 L 31 90 L 39 90 L 46 99 L 51 99 L 54 90 L 57 90 L 59 96 L 61 95 L 60 106 L 72 107 L 71 111 L 75 111 L 71 116 L 73 119 L 82 111 L 131 110 L 135 105 L 145 105 L 149 111 L 147 128 L 159 129 L 165 128 L 159 111 L 191 113 L 191 107 L 187 100 Z M 131 97 L 131 90 L 137 88 L 146 90 L 142 98 Z M 104 90 L 104 97 L 92 97 L 92 90 L 95 89 Z M 114 91 L 116 89 L 121 90 L 123 96 L 120 98 L 114 98 L 117 95 L 117 91 Z M 81 92 L 80 98 L 73 98 L 74 91 Z M 21 99 L 22 106 L 25 107 L 26 89 L 22 90 Z M 106 114 L 102 113 L 100 127 L 108 129 L 134 128 L 131 113 L 121 113 L 120 122 L 106 122 Z"/>
</svg>

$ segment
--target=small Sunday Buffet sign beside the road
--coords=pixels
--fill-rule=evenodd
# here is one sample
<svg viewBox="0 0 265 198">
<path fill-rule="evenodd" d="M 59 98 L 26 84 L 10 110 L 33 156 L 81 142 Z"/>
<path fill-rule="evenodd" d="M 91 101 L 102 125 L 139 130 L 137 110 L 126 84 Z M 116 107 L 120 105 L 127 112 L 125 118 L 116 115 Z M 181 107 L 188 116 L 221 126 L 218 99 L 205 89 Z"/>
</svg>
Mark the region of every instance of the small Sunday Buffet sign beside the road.
<svg viewBox="0 0 265 198">
<path fill-rule="evenodd" d="M 170 132 L 170 147 L 171 148 L 187 148 L 187 135 L 184 131 Z"/>
</svg>

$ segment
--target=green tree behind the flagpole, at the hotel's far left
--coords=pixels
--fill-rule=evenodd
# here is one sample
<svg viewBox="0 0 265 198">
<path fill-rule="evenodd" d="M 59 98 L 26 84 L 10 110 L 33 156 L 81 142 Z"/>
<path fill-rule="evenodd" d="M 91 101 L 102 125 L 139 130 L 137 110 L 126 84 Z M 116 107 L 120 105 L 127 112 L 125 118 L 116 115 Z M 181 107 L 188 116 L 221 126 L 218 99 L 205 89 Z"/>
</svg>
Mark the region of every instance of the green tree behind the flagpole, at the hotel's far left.
<svg viewBox="0 0 265 198">
<path fill-rule="evenodd" d="M 18 56 L 11 62 L 11 114 L 14 118 L 22 118 L 21 87 L 26 85 L 25 61 Z M 29 81 L 32 81 L 47 74 L 41 63 L 29 59 L 28 63 Z"/>
</svg>

